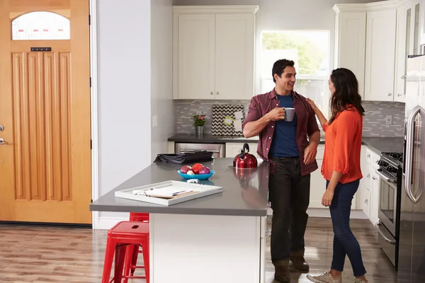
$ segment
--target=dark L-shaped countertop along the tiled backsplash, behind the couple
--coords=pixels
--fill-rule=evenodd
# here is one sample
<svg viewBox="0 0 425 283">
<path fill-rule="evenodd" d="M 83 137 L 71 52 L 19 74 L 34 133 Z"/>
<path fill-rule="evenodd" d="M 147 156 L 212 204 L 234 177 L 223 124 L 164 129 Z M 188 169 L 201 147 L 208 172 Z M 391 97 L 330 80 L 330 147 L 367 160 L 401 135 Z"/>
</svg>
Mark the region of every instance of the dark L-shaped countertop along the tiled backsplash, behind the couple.
<svg viewBox="0 0 425 283">
<path fill-rule="evenodd" d="M 169 137 L 168 141 L 182 143 L 199 143 L 199 144 L 220 144 L 226 142 L 257 142 L 259 137 L 232 137 L 232 136 L 212 136 L 204 134 L 202 138 L 197 138 L 194 134 L 175 134 Z M 402 137 L 363 137 L 363 144 L 369 146 L 373 151 L 380 152 L 403 152 L 404 138 Z M 324 139 L 320 140 L 320 144 L 324 144 Z"/>
</svg>

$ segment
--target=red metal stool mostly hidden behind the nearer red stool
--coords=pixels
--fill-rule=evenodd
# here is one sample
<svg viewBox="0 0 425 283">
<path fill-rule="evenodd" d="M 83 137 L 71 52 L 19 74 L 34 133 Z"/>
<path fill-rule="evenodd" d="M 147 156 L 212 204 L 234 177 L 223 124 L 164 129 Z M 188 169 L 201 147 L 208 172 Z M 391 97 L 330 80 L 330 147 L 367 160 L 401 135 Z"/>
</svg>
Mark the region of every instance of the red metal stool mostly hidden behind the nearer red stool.
<svg viewBox="0 0 425 283">
<path fill-rule="evenodd" d="M 130 221 L 141 221 L 141 222 L 149 222 L 149 213 L 136 213 L 130 212 Z M 140 245 L 134 245 L 132 247 L 128 247 L 125 252 L 125 265 L 124 265 L 124 283 L 128 282 L 129 278 L 142 278 L 143 276 L 135 276 L 136 268 L 145 268 L 145 265 L 137 265 L 137 257 L 139 253 L 143 253 L 143 248 Z M 146 270 L 145 270 L 146 274 Z"/>
</svg>

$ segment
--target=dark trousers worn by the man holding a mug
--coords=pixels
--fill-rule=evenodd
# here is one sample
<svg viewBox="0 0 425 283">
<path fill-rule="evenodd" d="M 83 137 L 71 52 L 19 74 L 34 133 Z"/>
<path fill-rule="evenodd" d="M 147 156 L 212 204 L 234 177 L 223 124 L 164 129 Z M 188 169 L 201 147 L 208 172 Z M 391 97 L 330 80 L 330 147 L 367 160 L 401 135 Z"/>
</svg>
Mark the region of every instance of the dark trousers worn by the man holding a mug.
<svg viewBox="0 0 425 283">
<path fill-rule="evenodd" d="M 288 260 L 290 252 L 304 250 L 307 207 L 310 202 L 310 174 L 301 175 L 300 158 L 271 158 L 275 173 L 268 182 L 268 198 L 273 209 L 271 261 Z"/>
</svg>

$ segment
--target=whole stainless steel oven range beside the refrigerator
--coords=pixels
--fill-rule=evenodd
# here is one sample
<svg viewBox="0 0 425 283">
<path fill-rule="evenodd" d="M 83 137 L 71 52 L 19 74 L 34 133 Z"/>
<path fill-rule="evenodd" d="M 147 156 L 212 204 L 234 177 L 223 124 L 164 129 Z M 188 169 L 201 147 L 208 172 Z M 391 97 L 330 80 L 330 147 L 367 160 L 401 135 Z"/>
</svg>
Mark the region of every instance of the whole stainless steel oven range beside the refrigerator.
<svg viewBox="0 0 425 283">
<path fill-rule="evenodd" d="M 399 213 L 402 182 L 402 154 L 382 153 L 379 168 L 378 245 L 397 270 Z"/>
</svg>

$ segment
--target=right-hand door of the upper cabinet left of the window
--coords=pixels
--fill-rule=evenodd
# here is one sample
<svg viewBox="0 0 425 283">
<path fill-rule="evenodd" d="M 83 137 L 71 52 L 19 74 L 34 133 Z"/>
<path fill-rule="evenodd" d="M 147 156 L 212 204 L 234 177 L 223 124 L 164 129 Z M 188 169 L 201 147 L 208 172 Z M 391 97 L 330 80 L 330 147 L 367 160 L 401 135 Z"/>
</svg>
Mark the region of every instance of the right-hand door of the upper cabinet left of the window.
<svg viewBox="0 0 425 283">
<path fill-rule="evenodd" d="M 249 100 L 254 93 L 254 15 L 215 16 L 215 99 Z"/>
</svg>

